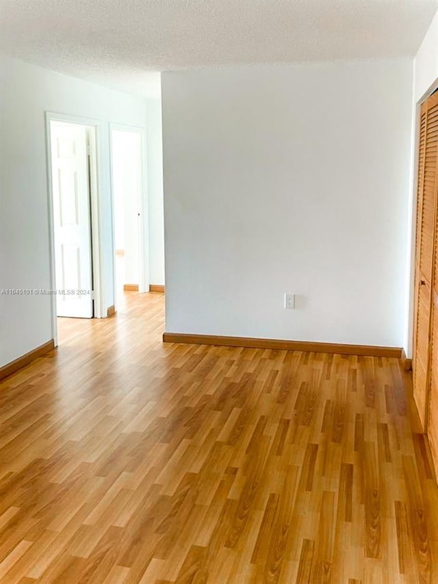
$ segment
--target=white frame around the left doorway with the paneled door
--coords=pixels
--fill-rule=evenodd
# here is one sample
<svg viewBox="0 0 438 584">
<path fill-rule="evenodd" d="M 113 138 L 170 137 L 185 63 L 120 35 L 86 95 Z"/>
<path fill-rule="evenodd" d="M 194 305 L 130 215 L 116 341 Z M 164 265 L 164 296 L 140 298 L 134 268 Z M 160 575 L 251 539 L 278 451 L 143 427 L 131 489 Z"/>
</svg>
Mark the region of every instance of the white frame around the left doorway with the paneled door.
<svg viewBox="0 0 438 584">
<path fill-rule="evenodd" d="M 51 160 L 51 122 L 64 122 L 87 126 L 90 131 L 90 229 L 92 247 L 92 287 L 94 292 L 94 318 L 103 318 L 103 255 L 101 253 L 102 238 L 102 208 L 101 208 L 101 185 L 99 138 L 101 135 L 101 122 L 90 118 L 70 116 L 69 114 L 59 114 L 55 112 L 45 112 L 46 125 L 46 155 L 47 155 L 47 197 L 49 210 L 49 257 L 50 257 L 50 283 L 51 290 L 56 290 L 55 271 L 55 227 L 53 220 L 53 186 L 52 186 L 52 160 Z M 51 297 L 51 329 L 52 338 L 57 346 L 57 315 L 56 297 Z M 106 316 L 106 314 L 105 314 Z"/>
</svg>

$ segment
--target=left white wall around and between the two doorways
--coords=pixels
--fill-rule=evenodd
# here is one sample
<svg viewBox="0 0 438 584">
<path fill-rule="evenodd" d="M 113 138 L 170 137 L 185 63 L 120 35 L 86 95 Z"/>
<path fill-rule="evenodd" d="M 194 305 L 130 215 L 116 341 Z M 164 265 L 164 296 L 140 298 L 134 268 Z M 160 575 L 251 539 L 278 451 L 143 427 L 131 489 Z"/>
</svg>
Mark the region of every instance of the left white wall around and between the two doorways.
<svg viewBox="0 0 438 584">
<path fill-rule="evenodd" d="M 44 112 L 100 120 L 105 306 L 112 297 L 109 123 L 144 127 L 144 99 L 0 56 L 1 288 L 50 288 Z M 49 296 L 0 296 L 0 366 L 51 339 Z"/>
</svg>

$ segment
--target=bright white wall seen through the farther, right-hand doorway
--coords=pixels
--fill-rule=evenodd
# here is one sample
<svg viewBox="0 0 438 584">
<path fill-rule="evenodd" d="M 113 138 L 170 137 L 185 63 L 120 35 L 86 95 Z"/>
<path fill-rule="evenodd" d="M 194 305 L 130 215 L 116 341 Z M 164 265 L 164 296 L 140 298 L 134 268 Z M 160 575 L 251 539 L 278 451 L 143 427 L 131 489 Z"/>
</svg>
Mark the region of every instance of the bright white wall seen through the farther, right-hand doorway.
<svg viewBox="0 0 438 584">
<path fill-rule="evenodd" d="M 114 214 L 123 218 L 125 274 L 123 283 L 139 284 L 139 201 L 141 196 L 141 134 L 112 130 Z M 116 244 L 116 249 L 118 249 Z"/>
</svg>

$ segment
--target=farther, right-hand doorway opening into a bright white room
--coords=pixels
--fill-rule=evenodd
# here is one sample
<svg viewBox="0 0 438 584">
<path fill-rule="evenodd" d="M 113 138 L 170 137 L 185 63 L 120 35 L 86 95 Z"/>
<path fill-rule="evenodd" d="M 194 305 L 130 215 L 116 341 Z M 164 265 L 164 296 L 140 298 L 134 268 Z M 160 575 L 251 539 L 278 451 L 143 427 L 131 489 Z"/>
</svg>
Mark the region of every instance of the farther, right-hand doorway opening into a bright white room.
<svg viewBox="0 0 438 584">
<path fill-rule="evenodd" d="M 141 129 L 111 126 L 116 306 L 146 292 L 144 149 Z"/>
</svg>

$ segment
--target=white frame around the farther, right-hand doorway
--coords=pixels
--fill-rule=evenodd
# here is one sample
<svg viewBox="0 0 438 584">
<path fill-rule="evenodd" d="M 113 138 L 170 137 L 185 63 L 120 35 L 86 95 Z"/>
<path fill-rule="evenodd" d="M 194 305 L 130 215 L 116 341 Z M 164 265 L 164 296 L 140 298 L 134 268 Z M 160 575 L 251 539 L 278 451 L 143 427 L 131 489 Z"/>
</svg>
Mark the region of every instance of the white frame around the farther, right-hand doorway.
<svg viewBox="0 0 438 584">
<path fill-rule="evenodd" d="M 111 218 L 112 218 L 112 262 L 114 275 L 114 307 L 117 309 L 117 283 L 116 283 L 116 218 L 114 214 L 114 177 L 113 177 L 113 130 L 140 134 L 140 199 L 138 210 L 140 221 L 138 225 L 138 292 L 149 292 L 149 216 L 148 216 L 148 185 L 147 185 L 147 149 L 146 128 L 141 126 L 129 126 L 125 124 L 110 123 L 110 184 L 111 184 Z"/>
</svg>

